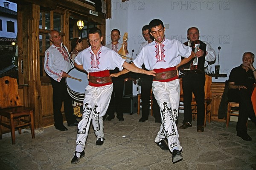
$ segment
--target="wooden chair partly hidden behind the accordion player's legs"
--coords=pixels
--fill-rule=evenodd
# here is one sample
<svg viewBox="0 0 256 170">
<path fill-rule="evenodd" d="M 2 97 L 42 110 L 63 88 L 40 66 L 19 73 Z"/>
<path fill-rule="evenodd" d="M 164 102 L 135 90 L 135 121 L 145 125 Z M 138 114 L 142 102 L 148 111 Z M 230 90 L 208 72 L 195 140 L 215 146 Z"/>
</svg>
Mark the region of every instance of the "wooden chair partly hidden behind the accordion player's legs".
<svg viewBox="0 0 256 170">
<path fill-rule="evenodd" d="M 211 122 L 211 101 L 212 101 L 212 77 L 205 75 L 205 84 L 204 84 L 204 126 L 206 126 L 206 118 L 208 115 L 208 122 Z M 182 89 L 182 78 L 180 78 L 180 102 L 183 102 L 183 89 Z M 183 104 L 180 104 L 179 109 L 184 109 Z M 195 120 L 195 115 L 197 114 L 197 106 L 195 101 L 195 95 L 192 94 L 191 109 L 193 120 Z"/>
</svg>

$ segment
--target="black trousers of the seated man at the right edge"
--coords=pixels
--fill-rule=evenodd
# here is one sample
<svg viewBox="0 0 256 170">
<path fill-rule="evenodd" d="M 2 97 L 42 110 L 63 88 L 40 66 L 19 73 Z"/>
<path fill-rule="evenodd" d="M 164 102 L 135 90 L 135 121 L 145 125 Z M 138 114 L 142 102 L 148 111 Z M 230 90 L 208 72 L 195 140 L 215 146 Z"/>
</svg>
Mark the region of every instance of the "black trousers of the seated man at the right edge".
<svg viewBox="0 0 256 170">
<path fill-rule="evenodd" d="M 248 118 L 256 124 L 251 95 L 250 89 L 233 89 L 228 94 L 229 101 L 239 102 L 239 115 L 236 124 L 236 130 L 239 132 L 247 132 L 246 123 Z"/>
</svg>

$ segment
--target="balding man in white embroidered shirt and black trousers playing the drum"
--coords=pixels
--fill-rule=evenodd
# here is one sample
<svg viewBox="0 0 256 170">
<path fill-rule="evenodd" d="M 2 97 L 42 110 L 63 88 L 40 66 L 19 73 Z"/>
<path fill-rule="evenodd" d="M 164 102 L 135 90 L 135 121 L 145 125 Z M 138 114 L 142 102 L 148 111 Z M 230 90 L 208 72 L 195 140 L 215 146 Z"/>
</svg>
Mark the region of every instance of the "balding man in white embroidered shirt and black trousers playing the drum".
<svg viewBox="0 0 256 170">
<path fill-rule="evenodd" d="M 67 48 L 63 45 L 61 35 L 52 30 L 49 33 L 52 45 L 45 51 L 44 70 L 50 76 L 53 88 L 53 115 L 56 129 L 65 131 L 61 113 L 62 102 L 67 126 L 77 126 L 76 118 L 73 116 L 72 98 L 67 92 L 65 79 L 67 72 L 73 67 L 70 63 Z"/>
</svg>

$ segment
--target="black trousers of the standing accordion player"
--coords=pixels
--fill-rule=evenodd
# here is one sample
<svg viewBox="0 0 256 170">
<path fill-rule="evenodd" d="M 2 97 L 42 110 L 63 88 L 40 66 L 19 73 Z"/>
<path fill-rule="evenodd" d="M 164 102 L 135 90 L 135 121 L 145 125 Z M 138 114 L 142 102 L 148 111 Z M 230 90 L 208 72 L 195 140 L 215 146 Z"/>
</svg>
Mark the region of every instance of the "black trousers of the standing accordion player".
<svg viewBox="0 0 256 170">
<path fill-rule="evenodd" d="M 204 126 L 204 73 L 188 71 L 182 76 L 182 89 L 184 100 L 184 120 L 183 123 L 192 122 L 192 92 L 195 95 L 197 104 L 197 126 Z"/>
</svg>

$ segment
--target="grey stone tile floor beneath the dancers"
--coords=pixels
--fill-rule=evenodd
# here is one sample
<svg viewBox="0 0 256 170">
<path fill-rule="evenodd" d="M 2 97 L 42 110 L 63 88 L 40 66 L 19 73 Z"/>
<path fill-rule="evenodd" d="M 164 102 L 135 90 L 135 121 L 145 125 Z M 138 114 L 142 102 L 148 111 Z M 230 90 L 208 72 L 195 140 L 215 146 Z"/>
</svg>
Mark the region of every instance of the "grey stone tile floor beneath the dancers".
<svg viewBox="0 0 256 170">
<path fill-rule="evenodd" d="M 154 143 L 160 124 L 152 116 L 143 123 L 137 114 L 124 118 L 104 121 L 102 146 L 95 146 L 91 127 L 85 157 L 78 164 L 71 164 L 77 127 L 65 132 L 48 127 L 35 139 L 25 130 L 16 134 L 15 145 L 5 134 L 0 140 L 0 170 L 256 170 L 256 127 L 250 121 L 252 141 L 236 136 L 236 122 L 230 122 L 228 128 L 223 122 L 207 122 L 204 133 L 198 133 L 193 121 L 193 127 L 179 129 L 183 161 L 173 164 L 171 153 Z M 180 114 L 178 127 L 182 120 Z"/>
</svg>

